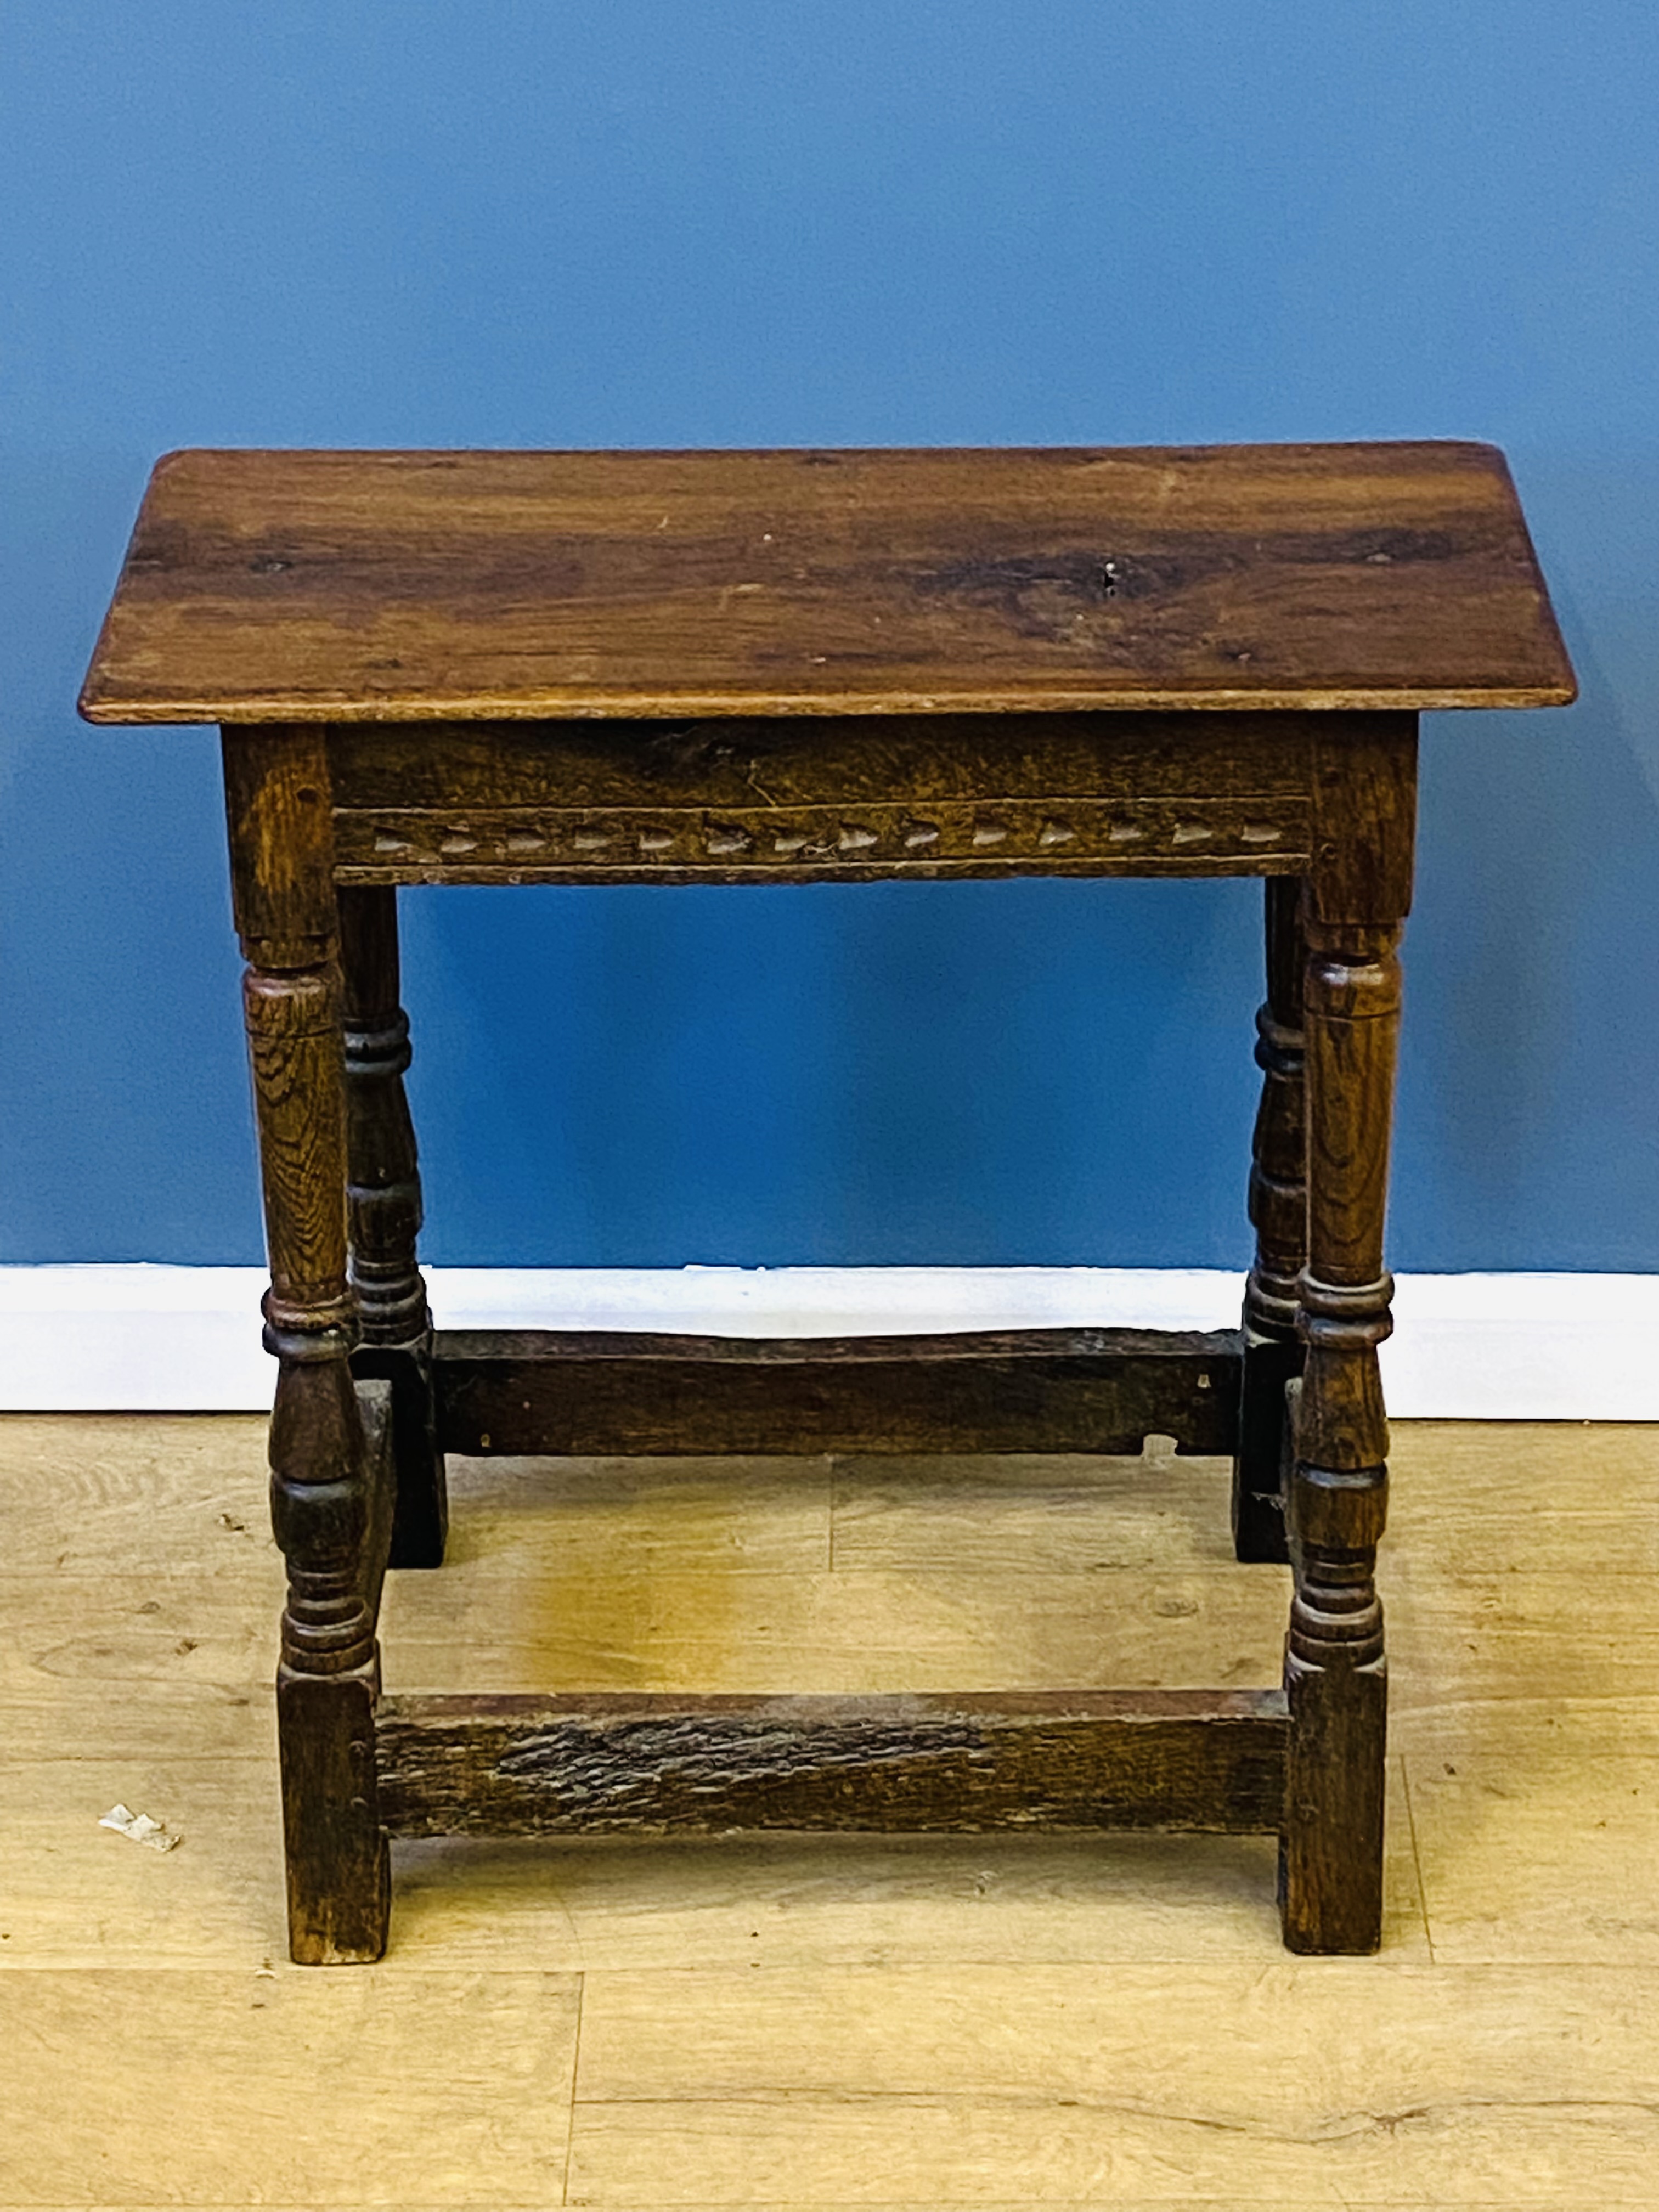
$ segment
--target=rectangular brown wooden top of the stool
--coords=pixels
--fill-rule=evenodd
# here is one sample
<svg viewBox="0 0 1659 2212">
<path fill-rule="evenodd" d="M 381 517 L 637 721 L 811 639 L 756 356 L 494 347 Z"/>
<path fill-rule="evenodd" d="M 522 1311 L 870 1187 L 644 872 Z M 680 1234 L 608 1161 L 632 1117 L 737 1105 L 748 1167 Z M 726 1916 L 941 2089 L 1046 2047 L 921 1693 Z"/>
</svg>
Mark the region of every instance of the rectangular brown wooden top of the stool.
<svg viewBox="0 0 1659 2212">
<path fill-rule="evenodd" d="M 1562 706 L 1495 447 L 181 451 L 88 721 Z"/>
</svg>

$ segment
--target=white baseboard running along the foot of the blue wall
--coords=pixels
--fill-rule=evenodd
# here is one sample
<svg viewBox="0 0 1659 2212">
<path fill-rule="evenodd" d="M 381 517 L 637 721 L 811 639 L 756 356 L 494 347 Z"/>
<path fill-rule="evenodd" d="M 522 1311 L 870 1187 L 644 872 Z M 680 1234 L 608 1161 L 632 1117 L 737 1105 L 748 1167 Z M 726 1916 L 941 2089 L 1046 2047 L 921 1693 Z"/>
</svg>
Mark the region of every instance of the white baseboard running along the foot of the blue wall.
<svg viewBox="0 0 1659 2212">
<path fill-rule="evenodd" d="M 1210 1267 L 434 1267 L 440 1327 L 902 1336 L 1225 1329 Z M 0 1411 L 270 1407 L 259 1267 L 0 1267 Z M 1659 1420 L 1659 1274 L 1400 1276 L 1383 1347 L 1400 1420 Z"/>
</svg>

